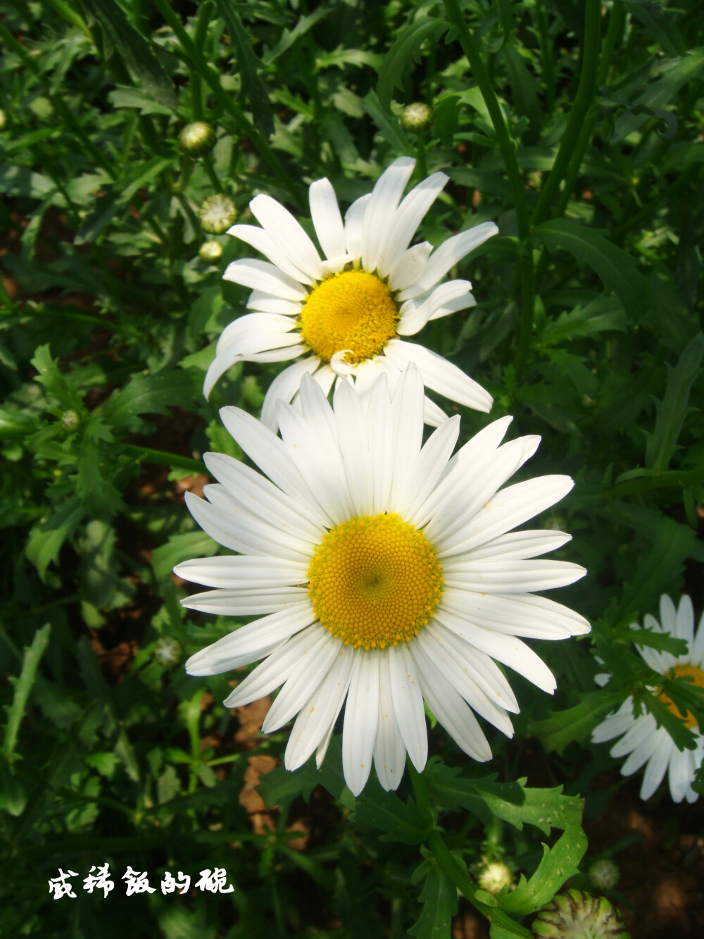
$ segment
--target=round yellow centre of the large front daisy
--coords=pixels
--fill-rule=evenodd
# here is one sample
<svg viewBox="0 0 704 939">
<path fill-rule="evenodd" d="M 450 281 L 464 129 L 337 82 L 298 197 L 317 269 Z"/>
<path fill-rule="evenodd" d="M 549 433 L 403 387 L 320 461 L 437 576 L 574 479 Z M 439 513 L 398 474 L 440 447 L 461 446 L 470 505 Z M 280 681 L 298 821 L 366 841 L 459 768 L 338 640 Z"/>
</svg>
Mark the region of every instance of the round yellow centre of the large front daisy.
<svg viewBox="0 0 704 939">
<path fill-rule="evenodd" d="M 428 539 L 397 515 L 350 518 L 329 531 L 308 568 L 317 619 L 355 649 L 418 636 L 442 596 Z"/>
</svg>

